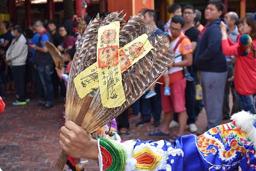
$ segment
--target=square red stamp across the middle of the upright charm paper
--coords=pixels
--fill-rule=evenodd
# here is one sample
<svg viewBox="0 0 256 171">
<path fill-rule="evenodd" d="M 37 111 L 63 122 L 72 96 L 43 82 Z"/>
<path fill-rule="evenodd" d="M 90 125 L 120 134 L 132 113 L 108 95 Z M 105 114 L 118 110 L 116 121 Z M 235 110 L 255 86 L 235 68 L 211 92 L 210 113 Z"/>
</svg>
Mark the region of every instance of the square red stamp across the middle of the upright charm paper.
<svg viewBox="0 0 256 171">
<path fill-rule="evenodd" d="M 99 68 L 116 67 L 118 64 L 118 46 L 108 46 L 98 49 Z"/>
</svg>

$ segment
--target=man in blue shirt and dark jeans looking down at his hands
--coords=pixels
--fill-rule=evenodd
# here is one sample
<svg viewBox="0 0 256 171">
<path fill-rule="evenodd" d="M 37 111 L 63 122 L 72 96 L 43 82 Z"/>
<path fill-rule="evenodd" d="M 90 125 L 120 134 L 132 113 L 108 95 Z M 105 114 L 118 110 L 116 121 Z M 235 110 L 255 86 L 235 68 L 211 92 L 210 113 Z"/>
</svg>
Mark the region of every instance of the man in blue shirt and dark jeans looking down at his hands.
<svg viewBox="0 0 256 171">
<path fill-rule="evenodd" d="M 29 48 L 35 49 L 35 67 L 38 70 L 44 88 L 44 100 L 38 105 L 42 106 L 43 109 L 49 109 L 53 106 L 54 98 L 51 76 L 53 73 L 53 61 L 44 42 L 51 41 L 51 36 L 40 20 L 35 21 L 34 25 L 35 30 L 40 34 L 40 37 L 38 43 L 36 45 L 29 44 Z"/>
</svg>

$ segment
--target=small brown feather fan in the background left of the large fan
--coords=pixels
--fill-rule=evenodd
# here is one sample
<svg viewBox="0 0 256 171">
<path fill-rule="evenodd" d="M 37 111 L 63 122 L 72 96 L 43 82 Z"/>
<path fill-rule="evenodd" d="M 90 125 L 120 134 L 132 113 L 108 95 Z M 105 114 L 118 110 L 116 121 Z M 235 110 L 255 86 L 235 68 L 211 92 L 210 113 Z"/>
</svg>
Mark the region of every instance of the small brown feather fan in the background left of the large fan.
<svg viewBox="0 0 256 171">
<path fill-rule="evenodd" d="M 54 61 L 55 66 L 59 69 L 62 69 L 63 64 L 64 64 L 64 60 L 61 57 L 61 52 L 54 46 L 54 44 L 52 44 L 49 41 L 44 42 L 44 45 L 49 50 L 49 52 L 52 56 L 52 59 Z"/>
</svg>

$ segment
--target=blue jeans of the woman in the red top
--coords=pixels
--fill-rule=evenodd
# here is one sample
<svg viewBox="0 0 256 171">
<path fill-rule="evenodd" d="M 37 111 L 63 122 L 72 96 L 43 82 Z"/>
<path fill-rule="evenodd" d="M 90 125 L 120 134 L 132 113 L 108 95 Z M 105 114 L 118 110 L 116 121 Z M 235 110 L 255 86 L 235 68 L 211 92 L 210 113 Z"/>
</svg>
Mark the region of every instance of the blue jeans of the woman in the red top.
<svg viewBox="0 0 256 171">
<path fill-rule="evenodd" d="M 253 115 L 256 114 L 254 96 L 255 95 L 243 96 L 243 95 L 237 93 L 237 97 L 238 97 L 238 100 L 239 100 L 241 110 L 250 112 Z"/>
</svg>

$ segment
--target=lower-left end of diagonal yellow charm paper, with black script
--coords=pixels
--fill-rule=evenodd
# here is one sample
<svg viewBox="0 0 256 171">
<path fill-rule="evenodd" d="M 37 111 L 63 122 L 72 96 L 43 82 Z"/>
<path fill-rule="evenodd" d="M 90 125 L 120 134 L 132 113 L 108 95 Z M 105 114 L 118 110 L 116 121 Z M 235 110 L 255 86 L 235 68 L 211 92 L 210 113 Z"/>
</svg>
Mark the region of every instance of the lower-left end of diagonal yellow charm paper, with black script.
<svg viewBox="0 0 256 171">
<path fill-rule="evenodd" d="M 95 62 L 74 78 L 78 96 L 83 99 L 88 93 L 99 87 L 98 64 Z"/>
</svg>

